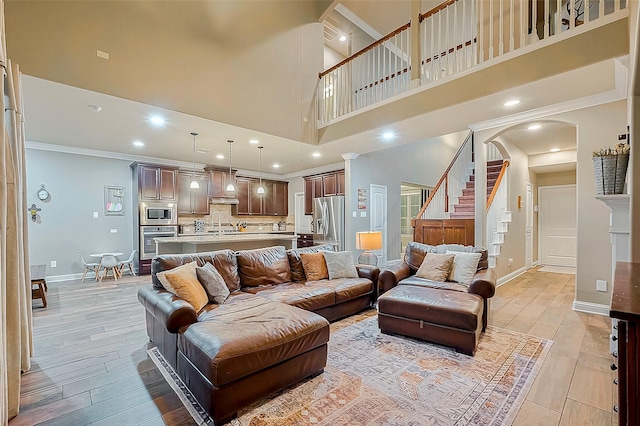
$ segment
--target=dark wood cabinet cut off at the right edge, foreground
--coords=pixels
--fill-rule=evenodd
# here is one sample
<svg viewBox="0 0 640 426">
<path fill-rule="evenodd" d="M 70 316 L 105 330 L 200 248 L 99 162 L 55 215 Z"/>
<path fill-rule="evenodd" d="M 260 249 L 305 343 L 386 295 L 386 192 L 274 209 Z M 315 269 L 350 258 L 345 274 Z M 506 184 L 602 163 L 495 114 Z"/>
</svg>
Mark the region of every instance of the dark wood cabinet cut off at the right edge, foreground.
<svg viewBox="0 0 640 426">
<path fill-rule="evenodd" d="M 618 424 L 640 424 L 640 263 L 617 262 L 609 316 L 617 319 L 612 370 L 617 370 L 618 401 L 613 410 Z"/>
</svg>

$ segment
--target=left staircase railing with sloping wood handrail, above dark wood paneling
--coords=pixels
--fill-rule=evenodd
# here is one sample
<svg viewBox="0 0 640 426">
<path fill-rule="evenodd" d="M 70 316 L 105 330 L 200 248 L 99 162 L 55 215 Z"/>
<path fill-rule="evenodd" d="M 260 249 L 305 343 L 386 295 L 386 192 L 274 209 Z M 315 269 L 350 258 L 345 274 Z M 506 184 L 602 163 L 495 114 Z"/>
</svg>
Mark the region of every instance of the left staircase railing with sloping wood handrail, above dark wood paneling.
<svg viewBox="0 0 640 426">
<path fill-rule="evenodd" d="M 415 219 L 448 219 L 449 207 L 455 204 L 451 195 L 462 194 L 472 164 L 473 131 L 470 131 Z M 415 219 L 412 221 L 414 227 Z"/>
</svg>

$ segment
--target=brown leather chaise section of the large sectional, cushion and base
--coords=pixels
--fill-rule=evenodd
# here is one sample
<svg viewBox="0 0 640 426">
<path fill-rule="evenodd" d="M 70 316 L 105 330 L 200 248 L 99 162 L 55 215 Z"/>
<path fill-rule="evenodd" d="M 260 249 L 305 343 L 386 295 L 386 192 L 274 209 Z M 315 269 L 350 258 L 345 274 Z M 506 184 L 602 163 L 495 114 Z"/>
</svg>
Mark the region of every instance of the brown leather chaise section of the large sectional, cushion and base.
<svg viewBox="0 0 640 426">
<path fill-rule="evenodd" d="M 215 424 L 240 408 L 322 373 L 329 322 L 259 297 L 202 313 L 178 335 L 177 372 Z"/>
</svg>

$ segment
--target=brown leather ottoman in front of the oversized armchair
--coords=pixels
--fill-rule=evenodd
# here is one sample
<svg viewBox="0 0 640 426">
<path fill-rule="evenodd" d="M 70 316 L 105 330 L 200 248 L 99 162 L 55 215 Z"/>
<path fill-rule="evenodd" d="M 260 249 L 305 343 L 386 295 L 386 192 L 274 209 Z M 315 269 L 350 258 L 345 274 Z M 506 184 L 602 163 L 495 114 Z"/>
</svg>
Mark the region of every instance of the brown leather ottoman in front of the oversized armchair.
<svg viewBox="0 0 640 426">
<path fill-rule="evenodd" d="M 411 285 L 393 287 L 378 298 L 378 327 L 452 346 L 473 355 L 482 332 L 482 297 Z"/>
</svg>

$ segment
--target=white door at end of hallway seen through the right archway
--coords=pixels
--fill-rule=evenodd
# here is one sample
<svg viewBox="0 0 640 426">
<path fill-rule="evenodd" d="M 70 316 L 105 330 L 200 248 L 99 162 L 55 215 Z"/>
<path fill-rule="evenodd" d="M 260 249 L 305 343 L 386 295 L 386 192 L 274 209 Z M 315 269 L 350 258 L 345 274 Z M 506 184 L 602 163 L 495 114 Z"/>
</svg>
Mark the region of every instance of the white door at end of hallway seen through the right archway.
<svg viewBox="0 0 640 426">
<path fill-rule="evenodd" d="M 538 188 L 540 262 L 576 266 L 576 186 Z"/>
</svg>

